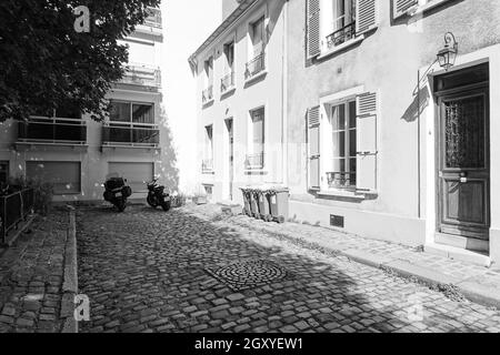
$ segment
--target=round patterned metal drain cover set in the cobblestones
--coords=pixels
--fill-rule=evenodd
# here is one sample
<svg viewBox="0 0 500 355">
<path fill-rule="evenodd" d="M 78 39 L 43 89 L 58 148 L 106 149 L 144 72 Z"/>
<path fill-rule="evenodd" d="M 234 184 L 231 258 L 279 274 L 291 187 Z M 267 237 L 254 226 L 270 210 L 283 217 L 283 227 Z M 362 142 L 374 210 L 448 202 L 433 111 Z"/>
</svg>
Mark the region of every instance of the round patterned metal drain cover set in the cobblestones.
<svg viewBox="0 0 500 355">
<path fill-rule="evenodd" d="M 243 291 L 287 278 L 287 271 L 267 260 L 247 260 L 206 271 L 232 291 Z"/>
</svg>

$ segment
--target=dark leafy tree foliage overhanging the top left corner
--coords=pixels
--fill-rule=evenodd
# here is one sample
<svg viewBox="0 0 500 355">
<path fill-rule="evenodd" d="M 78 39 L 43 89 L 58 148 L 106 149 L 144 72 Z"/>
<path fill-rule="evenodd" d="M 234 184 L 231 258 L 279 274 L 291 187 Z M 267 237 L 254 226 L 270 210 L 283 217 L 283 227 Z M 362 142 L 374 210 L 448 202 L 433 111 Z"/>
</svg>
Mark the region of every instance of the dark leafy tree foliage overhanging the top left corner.
<svg viewBox="0 0 500 355">
<path fill-rule="evenodd" d="M 101 121 L 106 94 L 123 75 L 126 45 L 160 0 L 1 0 L 0 121 L 23 120 L 68 102 Z M 77 32 L 73 9 L 90 10 L 90 32 Z"/>
</svg>

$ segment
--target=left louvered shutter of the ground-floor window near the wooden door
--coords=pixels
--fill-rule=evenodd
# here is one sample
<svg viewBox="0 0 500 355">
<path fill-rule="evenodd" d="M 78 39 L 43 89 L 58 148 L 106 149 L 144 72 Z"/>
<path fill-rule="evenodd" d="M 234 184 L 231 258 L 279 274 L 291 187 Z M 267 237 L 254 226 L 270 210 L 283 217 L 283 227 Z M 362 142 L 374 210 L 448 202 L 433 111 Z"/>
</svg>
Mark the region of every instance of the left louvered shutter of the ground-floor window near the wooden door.
<svg viewBox="0 0 500 355">
<path fill-rule="evenodd" d="M 321 120 L 320 106 L 308 110 L 308 185 L 309 190 L 321 189 Z"/>
</svg>

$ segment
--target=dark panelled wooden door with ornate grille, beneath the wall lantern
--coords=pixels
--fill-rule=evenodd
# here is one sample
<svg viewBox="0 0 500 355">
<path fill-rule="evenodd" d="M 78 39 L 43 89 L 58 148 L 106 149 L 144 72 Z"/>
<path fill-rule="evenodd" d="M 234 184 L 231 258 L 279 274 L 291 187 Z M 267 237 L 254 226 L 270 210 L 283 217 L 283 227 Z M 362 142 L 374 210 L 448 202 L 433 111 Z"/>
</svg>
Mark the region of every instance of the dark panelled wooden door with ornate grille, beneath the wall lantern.
<svg viewBox="0 0 500 355">
<path fill-rule="evenodd" d="M 489 240 L 487 88 L 439 98 L 439 232 Z"/>
</svg>

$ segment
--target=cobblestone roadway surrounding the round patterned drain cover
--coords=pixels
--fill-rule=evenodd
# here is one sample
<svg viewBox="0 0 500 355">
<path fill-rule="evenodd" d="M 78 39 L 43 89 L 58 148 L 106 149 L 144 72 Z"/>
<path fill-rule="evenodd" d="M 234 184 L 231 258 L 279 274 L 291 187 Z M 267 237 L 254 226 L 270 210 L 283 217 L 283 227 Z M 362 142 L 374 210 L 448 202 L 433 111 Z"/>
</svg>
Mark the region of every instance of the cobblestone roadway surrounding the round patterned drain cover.
<svg viewBox="0 0 500 355">
<path fill-rule="evenodd" d="M 204 212 L 80 210 L 80 332 L 500 332 L 497 311 Z"/>
</svg>

